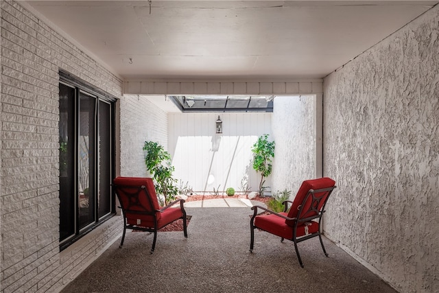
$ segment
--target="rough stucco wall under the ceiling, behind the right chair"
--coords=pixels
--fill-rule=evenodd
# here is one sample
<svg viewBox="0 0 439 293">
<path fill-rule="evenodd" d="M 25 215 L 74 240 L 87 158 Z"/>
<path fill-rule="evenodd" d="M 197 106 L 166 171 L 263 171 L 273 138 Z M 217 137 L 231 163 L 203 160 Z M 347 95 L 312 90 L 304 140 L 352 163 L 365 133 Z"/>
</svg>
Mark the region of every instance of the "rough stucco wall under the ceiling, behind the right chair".
<svg viewBox="0 0 439 293">
<path fill-rule="evenodd" d="M 439 6 L 324 79 L 324 231 L 400 292 L 439 288 Z"/>
</svg>

